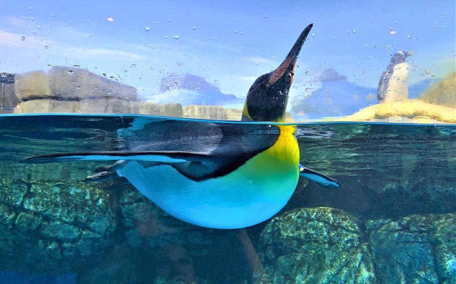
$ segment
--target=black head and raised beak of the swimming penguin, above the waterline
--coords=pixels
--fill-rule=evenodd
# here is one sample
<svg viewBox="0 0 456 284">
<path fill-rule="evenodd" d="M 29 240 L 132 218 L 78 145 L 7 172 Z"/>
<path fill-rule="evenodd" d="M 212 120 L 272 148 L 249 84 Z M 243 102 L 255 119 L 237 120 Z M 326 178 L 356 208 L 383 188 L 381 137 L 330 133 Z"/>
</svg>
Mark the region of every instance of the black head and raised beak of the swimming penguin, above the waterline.
<svg viewBox="0 0 456 284">
<path fill-rule="evenodd" d="M 288 92 L 293 82 L 299 51 L 313 24 L 299 35 L 285 60 L 274 71 L 258 77 L 247 93 L 242 120 L 285 121 Z"/>
</svg>

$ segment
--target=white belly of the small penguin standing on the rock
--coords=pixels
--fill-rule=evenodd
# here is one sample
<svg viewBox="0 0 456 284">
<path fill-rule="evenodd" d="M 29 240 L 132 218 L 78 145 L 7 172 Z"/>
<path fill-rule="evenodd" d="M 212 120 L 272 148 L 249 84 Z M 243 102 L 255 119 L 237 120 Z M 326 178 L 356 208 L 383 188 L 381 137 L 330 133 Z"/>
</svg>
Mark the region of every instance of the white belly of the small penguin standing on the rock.
<svg viewBox="0 0 456 284">
<path fill-rule="evenodd" d="M 408 97 L 407 67 L 408 65 L 405 62 L 394 65 L 384 102 L 399 101 Z"/>
</svg>

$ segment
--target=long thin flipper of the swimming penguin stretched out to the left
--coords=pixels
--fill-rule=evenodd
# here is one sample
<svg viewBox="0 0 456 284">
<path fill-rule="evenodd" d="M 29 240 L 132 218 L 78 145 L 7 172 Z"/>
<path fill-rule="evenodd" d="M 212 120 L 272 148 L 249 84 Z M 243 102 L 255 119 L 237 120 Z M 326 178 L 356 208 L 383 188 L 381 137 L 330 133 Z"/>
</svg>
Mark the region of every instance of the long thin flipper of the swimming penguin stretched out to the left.
<svg viewBox="0 0 456 284">
<path fill-rule="evenodd" d="M 143 160 L 164 163 L 179 163 L 188 161 L 210 161 L 212 157 L 207 152 L 187 151 L 89 151 L 75 153 L 54 153 L 26 157 L 24 163 L 48 163 L 61 161 L 88 160 Z M 103 171 L 103 170 L 102 170 Z"/>
</svg>

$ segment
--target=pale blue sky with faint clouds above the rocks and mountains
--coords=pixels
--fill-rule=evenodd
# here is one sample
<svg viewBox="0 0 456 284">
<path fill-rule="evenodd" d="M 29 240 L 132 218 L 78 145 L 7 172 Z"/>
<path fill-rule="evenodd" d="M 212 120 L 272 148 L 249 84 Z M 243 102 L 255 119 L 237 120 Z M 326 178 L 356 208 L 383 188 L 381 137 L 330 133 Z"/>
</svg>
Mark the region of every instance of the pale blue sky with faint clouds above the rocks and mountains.
<svg viewBox="0 0 456 284">
<path fill-rule="evenodd" d="M 331 67 L 349 81 L 376 87 L 399 49 L 415 52 L 409 57 L 411 82 L 455 68 L 454 0 L 6 4 L 0 10 L 0 71 L 77 64 L 119 76 L 140 94 L 155 92 L 167 73 L 188 72 L 245 96 L 311 22 L 313 36 L 303 47 L 295 80 L 307 70 Z"/>
</svg>

